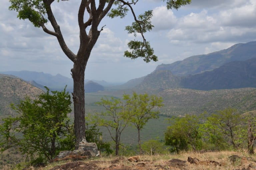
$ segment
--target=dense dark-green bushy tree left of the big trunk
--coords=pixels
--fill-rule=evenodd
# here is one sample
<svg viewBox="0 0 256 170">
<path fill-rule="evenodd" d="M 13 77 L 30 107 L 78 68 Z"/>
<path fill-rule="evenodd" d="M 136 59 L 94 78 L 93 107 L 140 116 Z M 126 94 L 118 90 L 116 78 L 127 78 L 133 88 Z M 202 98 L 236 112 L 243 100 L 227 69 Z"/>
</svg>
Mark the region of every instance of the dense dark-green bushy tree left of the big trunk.
<svg viewBox="0 0 256 170">
<path fill-rule="evenodd" d="M 4 136 L 0 147 L 4 151 L 17 146 L 23 154 L 44 155 L 48 160 L 60 150 L 74 148 L 73 128 L 69 125 L 67 114 L 71 112 L 70 95 L 66 88 L 39 95 L 39 99 L 29 98 L 19 105 L 11 105 L 18 115 L 3 119 L 0 134 Z"/>
</svg>

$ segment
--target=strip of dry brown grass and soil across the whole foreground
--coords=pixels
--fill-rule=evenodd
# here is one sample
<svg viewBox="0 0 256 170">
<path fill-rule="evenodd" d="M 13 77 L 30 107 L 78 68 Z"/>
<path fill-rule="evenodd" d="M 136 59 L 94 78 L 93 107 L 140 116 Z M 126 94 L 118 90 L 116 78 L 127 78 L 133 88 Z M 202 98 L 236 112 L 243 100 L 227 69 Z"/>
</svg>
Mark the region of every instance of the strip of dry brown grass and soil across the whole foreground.
<svg viewBox="0 0 256 170">
<path fill-rule="evenodd" d="M 229 156 L 234 154 L 241 158 L 233 163 Z M 188 156 L 197 158 L 202 163 L 190 164 L 187 162 Z M 221 166 L 210 163 L 210 160 L 220 163 Z M 256 156 L 244 152 L 184 152 L 176 155 L 142 155 L 138 162 L 129 162 L 128 157 L 98 157 L 79 161 L 65 160 L 49 163 L 45 167 L 29 167 L 27 170 L 252 170 L 256 168 L 255 160 Z M 11 168 L 5 166 L 3 170 L 11 170 Z"/>
</svg>

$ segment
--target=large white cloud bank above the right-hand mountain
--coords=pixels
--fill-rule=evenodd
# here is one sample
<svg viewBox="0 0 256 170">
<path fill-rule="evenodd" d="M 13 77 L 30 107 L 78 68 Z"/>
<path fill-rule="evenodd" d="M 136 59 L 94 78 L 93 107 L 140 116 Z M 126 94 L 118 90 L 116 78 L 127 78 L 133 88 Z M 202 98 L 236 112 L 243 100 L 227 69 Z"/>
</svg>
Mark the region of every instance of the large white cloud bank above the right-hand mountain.
<svg viewBox="0 0 256 170">
<path fill-rule="evenodd" d="M 172 28 L 167 37 L 171 42 L 190 41 L 208 42 L 247 42 L 256 39 L 255 3 L 246 3 L 241 7 L 208 13 L 199 13 L 177 19 L 177 26 Z M 206 47 L 206 51 L 208 47 Z"/>
</svg>

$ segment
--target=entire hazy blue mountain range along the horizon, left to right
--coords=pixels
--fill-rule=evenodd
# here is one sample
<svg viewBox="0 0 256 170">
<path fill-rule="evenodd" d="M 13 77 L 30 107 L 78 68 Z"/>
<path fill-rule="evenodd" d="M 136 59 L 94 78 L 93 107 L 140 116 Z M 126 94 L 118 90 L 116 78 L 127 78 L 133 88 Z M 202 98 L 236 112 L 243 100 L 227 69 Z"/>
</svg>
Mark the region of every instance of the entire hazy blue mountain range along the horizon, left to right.
<svg viewBox="0 0 256 170">
<path fill-rule="evenodd" d="M 256 87 L 256 42 L 239 43 L 227 49 L 204 55 L 195 55 L 171 64 L 161 64 L 156 69 L 140 78 L 125 84 L 114 86 L 106 81 L 85 80 L 86 91 L 95 89 L 140 89 L 161 91 L 169 88 L 188 88 L 196 90 L 232 89 Z M 0 72 L 22 78 L 38 88 L 47 86 L 52 90 L 72 91 L 73 80 L 57 74 L 43 72 L 7 71 Z M 88 87 L 91 89 L 89 90 Z"/>
</svg>

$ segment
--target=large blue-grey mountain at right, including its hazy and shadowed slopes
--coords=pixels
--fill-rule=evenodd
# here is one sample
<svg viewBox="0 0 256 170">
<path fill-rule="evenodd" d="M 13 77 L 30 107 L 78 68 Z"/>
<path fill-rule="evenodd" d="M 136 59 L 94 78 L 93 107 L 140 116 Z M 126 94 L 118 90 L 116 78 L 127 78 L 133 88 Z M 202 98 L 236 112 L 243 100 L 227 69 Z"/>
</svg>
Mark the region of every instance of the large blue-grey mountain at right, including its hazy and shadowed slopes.
<svg viewBox="0 0 256 170">
<path fill-rule="evenodd" d="M 256 87 L 255 46 L 256 42 L 239 43 L 210 54 L 161 64 L 152 73 L 126 84 L 130 88 L 157 91 L 169 88 L 214 90 Z"/>
</svg>

